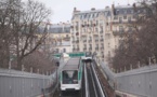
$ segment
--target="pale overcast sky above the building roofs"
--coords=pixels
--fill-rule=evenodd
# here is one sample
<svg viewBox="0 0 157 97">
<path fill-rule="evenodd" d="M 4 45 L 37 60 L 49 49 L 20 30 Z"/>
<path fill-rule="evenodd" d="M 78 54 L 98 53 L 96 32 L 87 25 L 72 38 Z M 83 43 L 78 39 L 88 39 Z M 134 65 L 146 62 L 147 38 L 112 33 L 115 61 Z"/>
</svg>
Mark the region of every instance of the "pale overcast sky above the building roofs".
<svg viewBox="0 0 157 97">
<path fill-rule="evenodd" d="M 87 11 L 91 8 L 105 9 L 115 5 L 127 5 L 128 2 L 132 4 L 135 0 L 38 0 L 52 10 L 51 23 L 57 24 L 60 22 L 66 23 L 70 20 L 73 10 L 76 6 L 77 10 Z"/>
</svg>

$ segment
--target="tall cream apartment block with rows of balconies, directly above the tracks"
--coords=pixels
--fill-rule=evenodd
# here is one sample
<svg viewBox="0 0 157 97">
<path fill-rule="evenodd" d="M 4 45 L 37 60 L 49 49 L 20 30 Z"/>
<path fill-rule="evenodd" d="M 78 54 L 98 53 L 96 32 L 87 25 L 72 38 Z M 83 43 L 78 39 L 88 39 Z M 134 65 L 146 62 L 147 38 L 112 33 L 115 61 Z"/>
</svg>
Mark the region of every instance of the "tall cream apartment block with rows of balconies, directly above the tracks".
<svg viewBox="0 0 157 97">
<path fill-rule="evenodd" d="M 105 33 L 110 33 L 110 9 L 78 11 L 74 9 L 71 18 L 71 40 L 74 52 L 96 52 L 104 60 Z"/>
</svg>

